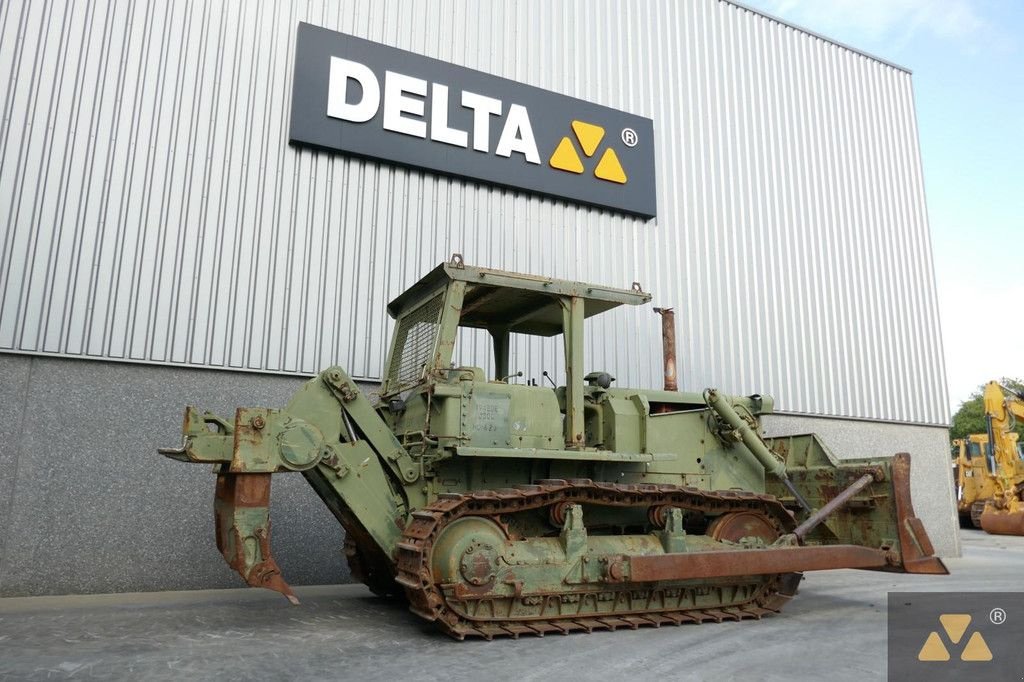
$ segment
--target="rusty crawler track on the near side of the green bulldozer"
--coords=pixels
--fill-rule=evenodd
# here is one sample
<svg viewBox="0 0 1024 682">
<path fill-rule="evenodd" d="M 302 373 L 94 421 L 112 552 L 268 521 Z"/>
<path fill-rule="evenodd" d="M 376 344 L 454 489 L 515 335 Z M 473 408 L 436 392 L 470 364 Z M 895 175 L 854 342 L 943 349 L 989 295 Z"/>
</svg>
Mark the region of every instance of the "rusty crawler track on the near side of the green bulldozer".
<svg viewBox="0 0 1024 682">
<path fill-rule="evenodd" d="M 793 515 L 772 496 L 740 491 L 708 492 L 666 484 L 615 484 L 590 479 L 542 480 L 532 485 L 445 494 L 413 512 L 397 548 L 395 582 L 402 586 L 410 610 L 433 621 L 457 639 L 518 637 L 575 631 L 637 629 L 705 621 L 761 619 L 777 612 L 796 593 L 800 573 L 756 580 L 723 579 L 698 584 L 625 583 L 581 586 L 557 594 L 474 599 L 453 586 L 437 585 L 431 568 L 435 540 L 459 518 L 488 518 L 504 526 L 502 515 L 568 503 L 611 507 L 668 505 L 719 515 L 760 513 L 779 534 L 796 525 Z"/>
</svg>

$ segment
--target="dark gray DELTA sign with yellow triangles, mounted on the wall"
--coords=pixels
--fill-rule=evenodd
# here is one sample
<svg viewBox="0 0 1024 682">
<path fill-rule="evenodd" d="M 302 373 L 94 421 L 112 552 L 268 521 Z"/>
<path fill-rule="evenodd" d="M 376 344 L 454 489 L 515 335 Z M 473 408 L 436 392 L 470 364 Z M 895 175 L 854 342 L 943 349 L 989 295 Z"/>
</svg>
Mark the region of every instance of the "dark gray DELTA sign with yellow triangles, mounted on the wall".
<svg viewBox="0 0 1024 682">
<path fill-rule="evenodd" d="M 653 217 L 650 119 L 309 24 L 293 144 Z"/>
</svg>

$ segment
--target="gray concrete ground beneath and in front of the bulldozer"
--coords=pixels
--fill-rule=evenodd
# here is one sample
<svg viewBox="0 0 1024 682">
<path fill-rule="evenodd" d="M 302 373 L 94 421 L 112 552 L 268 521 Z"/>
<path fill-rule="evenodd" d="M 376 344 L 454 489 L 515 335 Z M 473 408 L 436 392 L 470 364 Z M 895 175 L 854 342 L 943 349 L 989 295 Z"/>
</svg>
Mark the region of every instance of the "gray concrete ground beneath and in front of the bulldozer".
<svg viewBox="0 0 1024 682">
<path fill-rule="evenodd" d="M 889 591 L 1020 591 L 1024 538 L 963 531 L 951 577 L 810 573 L 762 622 L 456 642 L 359 586 L 0 599 L 0 679 L 880 679 Z"/>
</svg>

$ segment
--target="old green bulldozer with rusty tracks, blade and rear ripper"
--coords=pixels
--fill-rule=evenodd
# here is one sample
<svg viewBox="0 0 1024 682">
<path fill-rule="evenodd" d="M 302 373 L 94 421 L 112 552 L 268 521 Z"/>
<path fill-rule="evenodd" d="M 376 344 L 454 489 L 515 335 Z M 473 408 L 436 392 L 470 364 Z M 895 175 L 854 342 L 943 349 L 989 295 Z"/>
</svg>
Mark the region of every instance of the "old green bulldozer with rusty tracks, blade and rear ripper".
<svg viewBox="0 0 1024 682">
<path fill-rule="evenodd" d="M 458 638 L 760 619 L 802 572 L 945 573 L 910 503 L 910 458 L 840 462 L 813 434 L 766 438 L 764 395 L 612 386 L 584 321 L 650 295 L 472 267 L 456 254 L 388 305 L 371 400 L 338 367 L 283 410 L 187 408 L 213 464 L 217 546 L 297 602 L 270 553 L 270 477 L 300 472 L 344 527 L 353 578 Z M 493 376 L 453 358 L 485 330 Z M 564 385 L 509 381 L 512 335 L 556 337 Z M 545 373 L 547 377 L 547 373 Z"/>
</svg>

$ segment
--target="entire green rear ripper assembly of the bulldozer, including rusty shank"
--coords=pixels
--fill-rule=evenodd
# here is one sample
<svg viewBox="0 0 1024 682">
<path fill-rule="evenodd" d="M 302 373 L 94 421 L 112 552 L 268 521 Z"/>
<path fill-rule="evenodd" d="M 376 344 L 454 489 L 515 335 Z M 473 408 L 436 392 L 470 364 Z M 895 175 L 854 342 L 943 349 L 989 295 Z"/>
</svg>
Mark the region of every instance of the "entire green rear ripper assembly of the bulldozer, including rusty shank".
<svg viewBox="0 0 1024 682">
<path fill-rule="evenodd" d="M 299 417 L 301 415 L 301 417 Z M 229 422 L 186 408 L 171 459 L 212 464 L 217 548 L 253 587 L 298 603 L 270 551 L 270 476 L 300 472 L 350 536 L 390 554 L 409 512 L 401 481 L 419 477 L 370 400 L 340 368 L 310 380 L 284 410 L 240 408 Z"/>
</svg>

